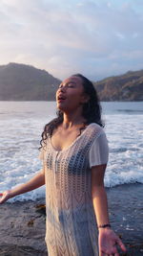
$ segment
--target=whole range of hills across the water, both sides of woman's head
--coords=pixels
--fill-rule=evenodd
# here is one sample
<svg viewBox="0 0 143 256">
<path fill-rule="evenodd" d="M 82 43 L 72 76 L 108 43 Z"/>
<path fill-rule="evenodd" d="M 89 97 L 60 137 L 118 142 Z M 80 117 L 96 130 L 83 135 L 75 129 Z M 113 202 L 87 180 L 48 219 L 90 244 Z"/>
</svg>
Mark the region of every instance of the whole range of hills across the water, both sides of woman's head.
<svg viewBox="0 0 143 256">
<path fill-rule="evenodd" d="M 61 81 L 45 70 L 9 63 L 0 66 L 0 101 L 54 101 Z M 143 70 L 93 82 L 100 101 L 143 101 Z"/>
</svg>

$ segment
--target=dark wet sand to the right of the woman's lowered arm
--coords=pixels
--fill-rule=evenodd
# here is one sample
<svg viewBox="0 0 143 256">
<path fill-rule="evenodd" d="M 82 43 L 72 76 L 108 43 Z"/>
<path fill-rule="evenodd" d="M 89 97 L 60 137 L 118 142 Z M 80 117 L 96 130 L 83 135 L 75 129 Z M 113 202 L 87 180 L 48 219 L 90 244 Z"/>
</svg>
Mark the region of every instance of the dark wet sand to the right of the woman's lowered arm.
<svg viewBox="0 0 143 256">
<path fill-rule="evenodd" d="M 143 255 L 143 184 L 128 184 L 107 189 L 113 230 L 128 249 L 120 255 Z"/>
</svg>

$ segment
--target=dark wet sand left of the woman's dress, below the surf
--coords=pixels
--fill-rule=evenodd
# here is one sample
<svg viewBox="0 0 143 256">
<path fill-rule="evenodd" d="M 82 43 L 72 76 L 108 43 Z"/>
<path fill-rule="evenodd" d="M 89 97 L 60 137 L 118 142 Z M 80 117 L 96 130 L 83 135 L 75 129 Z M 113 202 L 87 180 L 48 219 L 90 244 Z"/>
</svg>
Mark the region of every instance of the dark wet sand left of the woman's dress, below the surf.
<svg viewBox="0 0 143 256">
<path fill-rule="evenodd" d="M 45 215 L 36 208 L 44 199 L 0 205 L 0 255 L 46 256 Z"/>
</svg>

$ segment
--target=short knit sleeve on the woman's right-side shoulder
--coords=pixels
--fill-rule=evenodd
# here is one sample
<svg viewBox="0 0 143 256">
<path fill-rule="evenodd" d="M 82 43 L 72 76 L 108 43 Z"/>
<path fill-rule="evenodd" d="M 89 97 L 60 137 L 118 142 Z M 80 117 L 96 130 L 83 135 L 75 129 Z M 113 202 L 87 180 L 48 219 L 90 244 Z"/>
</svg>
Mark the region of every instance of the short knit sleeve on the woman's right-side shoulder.
<svg viewBox="0 0 143 256">
<path fill-rule="evenodd" d="M 90 150 L 90 168 L 92 166 L 107 164 L 109 160 L 109 145 L 104 131 L 95 138 Z"/>
</svg>

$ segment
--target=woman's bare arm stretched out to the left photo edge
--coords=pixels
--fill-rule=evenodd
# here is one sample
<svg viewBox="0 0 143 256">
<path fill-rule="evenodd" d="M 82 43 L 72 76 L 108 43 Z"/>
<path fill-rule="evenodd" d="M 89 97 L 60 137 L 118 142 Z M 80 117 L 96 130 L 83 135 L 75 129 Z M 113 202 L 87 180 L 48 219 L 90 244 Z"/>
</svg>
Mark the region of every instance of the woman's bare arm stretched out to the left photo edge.
<svg viewBox="0 0 143 256">
<path fill-rule="evenodd" d="M 7 201 L 10 198 L 13 198 L 17 195 L 30 192 L 31 190 L 37 189 L 45 184 L 45 173 L 44 170 L 41 170 L 34 175 L 28 182 L 25 184 L 19 185 L 14 189 L 7 190 L 3 193 L 0 193 L 0 203 Z"/>
</svg>

